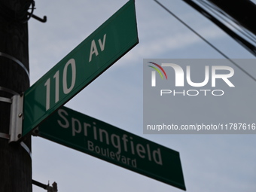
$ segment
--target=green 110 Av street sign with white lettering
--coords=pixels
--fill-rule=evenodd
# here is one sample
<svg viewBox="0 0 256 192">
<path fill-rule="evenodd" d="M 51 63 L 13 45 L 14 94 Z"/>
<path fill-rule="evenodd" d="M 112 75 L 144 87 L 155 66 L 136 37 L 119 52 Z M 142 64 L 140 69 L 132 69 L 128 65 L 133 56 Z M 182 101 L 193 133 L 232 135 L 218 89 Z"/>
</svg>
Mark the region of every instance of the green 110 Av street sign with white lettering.
<svg viewBox="0 0 256 192">
<path fill-rule="evenodd" d="M 135 2 L 130 0 L 25 92 L 22 135 L 138 43 Z"/>
</svg>

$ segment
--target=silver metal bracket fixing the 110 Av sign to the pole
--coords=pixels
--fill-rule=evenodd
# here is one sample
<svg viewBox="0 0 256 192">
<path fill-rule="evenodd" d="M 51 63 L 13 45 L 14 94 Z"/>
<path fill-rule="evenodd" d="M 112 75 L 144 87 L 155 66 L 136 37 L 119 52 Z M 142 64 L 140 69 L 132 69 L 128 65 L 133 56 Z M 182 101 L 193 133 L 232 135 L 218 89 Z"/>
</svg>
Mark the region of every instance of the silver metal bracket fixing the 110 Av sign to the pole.
<svg viewBox="0 0 256 192">
<path fill-rule="evenodd" d="M 11 98 L 11 117 L 10 117 L 10 142 L 17 142 L 22 136 L 23 127 L 23 94 L 14 95 Z"/>
</svg>

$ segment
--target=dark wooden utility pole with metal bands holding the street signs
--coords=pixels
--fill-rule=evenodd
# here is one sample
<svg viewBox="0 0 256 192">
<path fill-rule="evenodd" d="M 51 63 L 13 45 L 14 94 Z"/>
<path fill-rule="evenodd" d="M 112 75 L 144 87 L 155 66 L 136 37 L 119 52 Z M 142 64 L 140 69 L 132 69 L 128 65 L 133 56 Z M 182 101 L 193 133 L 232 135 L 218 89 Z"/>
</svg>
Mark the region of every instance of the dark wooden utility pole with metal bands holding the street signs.
<svg viewBox="0 0 256 192">
<path fill-rule="evenodd" d="M 9 143 L 11 97 L 29 88 L 30 0 L 0 0 L 0 191 L 31 192 L 31 137 Z"/>
</svg>

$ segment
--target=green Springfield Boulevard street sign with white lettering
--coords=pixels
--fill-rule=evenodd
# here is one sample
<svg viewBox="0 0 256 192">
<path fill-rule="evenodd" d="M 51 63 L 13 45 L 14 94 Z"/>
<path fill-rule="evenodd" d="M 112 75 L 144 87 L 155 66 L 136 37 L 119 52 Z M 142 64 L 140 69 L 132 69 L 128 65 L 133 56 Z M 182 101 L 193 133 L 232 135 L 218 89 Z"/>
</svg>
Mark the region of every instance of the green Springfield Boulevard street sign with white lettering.
<svg viewBox="0 0 256 192">
<path fill-rule="evenodd" d="M 177 151 L 72 109 L 59 108 L 38 136 L 186 190 Z"/>
</svg>

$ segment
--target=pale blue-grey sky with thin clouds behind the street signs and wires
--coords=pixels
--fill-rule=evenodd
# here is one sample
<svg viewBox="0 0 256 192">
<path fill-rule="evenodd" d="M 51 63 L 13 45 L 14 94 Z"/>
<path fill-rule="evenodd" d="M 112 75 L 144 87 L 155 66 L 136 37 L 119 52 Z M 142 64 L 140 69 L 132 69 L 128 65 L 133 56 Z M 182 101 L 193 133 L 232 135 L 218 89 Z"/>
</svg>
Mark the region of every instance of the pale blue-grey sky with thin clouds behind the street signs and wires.
<svg viewBox="0 0 256 192">
<path fill-rule="evenodd" d="M 36 1 L 34 14 L 38 17 L 46 15 L 47 23 L 29 20 L 31 85 L 126 2 Z M 159 2 L 228 57 L 254 59 L 251 53 L 184 2 Z M 223 59 L 223 56 L 153 0 L 136 1 L 136 19 L 139 44 L 66 106 L 178 151 L 187 191 L 255 191 L 254 134 L 143 134 L 143 59 Z M 256 77 L 253 66 L 242 67 Z M 227 98 L 224 106 L 209 101 L 209 110 L 205 113 L 206 116 L 208 112 L 214 115 L 212 117 L 217 122 L 218 118 L 227 116 L 233 121 L 230 123 L 248 123 L 254 119 L 256 82 L 235 66 L 233 68 L 237 73 L 236 84 L 242 87 L 241 94 Z M 193 103 L 181 103 L 181 108 L 190 113 L 193 113 L 192 107 Z M 175 106 L 174 111 L 177 109 Z M 221 111 L 224 112 L 219 115 Z M 189 119 L 190 114 L 186 118 Z M 245 122 L 235 122 L 237 119 Z M 32 137 L 32 178 L 44 184 L 56 181 L 61 192 L 181 191 L 40 137 Z M 34 185 L 33 191 L 45 190 Z"/>
</svg>

